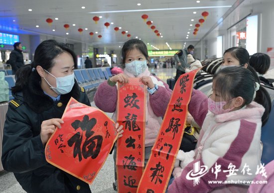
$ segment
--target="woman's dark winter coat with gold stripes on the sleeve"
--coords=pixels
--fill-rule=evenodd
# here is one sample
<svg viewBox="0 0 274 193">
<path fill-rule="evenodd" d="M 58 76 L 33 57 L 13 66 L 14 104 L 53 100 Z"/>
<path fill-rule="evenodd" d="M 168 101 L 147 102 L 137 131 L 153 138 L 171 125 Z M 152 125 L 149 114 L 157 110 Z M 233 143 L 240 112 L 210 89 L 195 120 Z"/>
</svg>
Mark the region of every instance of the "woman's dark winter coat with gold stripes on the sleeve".
<svg viewBox="0 0 274 193">
<path fill-rule="evenodd" d="M 71 96 L 90 106 L 84 88 L 79 87 L 75 80 L 72 91 L 54 102 L 44 94 L 39 83 L 29 83 L 22 92 L 13 96 L 4 123 L 4 170 L 13 172 L 28 193 L 91 193 L 87 183 L 46 162 L 40 138 L 42 122 L 61 118 Z"/>
</svg>

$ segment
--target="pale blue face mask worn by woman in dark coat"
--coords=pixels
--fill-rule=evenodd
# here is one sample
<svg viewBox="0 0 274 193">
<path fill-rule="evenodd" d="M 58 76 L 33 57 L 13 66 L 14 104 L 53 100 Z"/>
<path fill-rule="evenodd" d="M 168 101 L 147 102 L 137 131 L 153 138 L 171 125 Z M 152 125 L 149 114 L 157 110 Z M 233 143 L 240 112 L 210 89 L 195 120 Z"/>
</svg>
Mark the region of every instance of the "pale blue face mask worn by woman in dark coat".
<svg viewBox="0 0 274 193">
<path fill-rule="evenodd" d="M 45 71 L 49 73 L 47 70 Z M 49 74 L 52 75 L 51 73 Z M 55 77 L 54 75 L 52 76 L 56 79 L 56 87 L 51 86 L 48 81 L 45 78 L 44 79 L 54 92 L 57 94 L 67 94 L 72 90 L 72 87 L 74 86 L 74 73 L 64 77 Z"/>
</svg>

